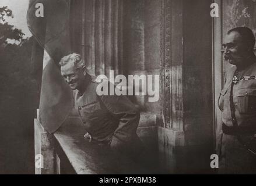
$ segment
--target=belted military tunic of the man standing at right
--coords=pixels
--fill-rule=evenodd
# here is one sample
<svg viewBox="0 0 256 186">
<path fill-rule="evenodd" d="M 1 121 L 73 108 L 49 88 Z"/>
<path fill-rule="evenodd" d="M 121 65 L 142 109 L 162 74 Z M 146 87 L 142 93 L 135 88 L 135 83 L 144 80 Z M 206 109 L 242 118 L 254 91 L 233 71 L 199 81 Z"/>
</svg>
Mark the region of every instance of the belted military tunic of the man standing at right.
<svg viewBox="0 0 256 186">
<path fill-rule="evenodd" d="M 236 66 L 233 66 L 226 73 L 219 109 L 222 110 L 222 122 L 232 127 L 232 120 L 236 119 L 241 139 L 248 141 L 256 134 L 256 63 L 239 71 L 233 85 L 234 119 L 230 109 L 230 89 L 235 71 Z M 218 140 L 220 173 L 256 173 L 256 156 L 241 144 L 237 135 L 223 134 L 219 126 Z"/>
</svg>

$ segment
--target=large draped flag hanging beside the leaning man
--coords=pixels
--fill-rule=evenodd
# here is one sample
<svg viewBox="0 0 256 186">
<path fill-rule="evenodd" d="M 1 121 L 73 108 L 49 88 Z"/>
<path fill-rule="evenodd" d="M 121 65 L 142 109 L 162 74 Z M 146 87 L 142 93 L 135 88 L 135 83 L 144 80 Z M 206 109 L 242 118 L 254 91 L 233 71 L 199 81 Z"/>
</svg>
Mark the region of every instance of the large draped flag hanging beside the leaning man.
<svg viewBox="0 0 256 186">
<path fill-rule="evenodd" d="M 40 6 L 43 17 L 36 16 L 38 3 L 43 5 Z M 69 0 L 30 0 L 27 10 L 29 30 L 44 48 L 39 120 L 48 133 L 54 133 L 61 126 L 73 106 L 72 91 L 58 66 L 59 60 L 71 53 L 69 7 Z"/>
</svg>

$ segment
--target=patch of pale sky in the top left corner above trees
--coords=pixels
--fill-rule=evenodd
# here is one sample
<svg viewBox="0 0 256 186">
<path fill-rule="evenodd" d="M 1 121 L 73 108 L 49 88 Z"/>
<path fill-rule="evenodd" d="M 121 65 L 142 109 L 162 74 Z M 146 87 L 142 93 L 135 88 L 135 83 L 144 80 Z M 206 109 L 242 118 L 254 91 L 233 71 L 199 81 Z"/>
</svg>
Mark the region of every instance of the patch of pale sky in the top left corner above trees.
<svg viewBox="0 0 256 186">
<path fill-rule="evenodd" d="M 27 28 L 27 8 L 29 7 L 29 0 L 0 0 L 0 7 L 8 6 L 13 13 L 13 19 L 6 19 L 9 24 L 22 30 L 25 34 L 23 38 L 31 37 L 29 28 Z"/>
</svg>

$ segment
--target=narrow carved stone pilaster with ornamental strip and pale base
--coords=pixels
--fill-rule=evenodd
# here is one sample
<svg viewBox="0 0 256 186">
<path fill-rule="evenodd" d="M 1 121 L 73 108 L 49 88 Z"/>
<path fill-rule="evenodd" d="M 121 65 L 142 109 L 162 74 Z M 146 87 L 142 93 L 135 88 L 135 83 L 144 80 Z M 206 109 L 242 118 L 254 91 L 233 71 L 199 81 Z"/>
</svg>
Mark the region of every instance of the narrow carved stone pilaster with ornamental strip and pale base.
<svg viewBox="0 0 256 186">
<path fill-rule="evenodd" d="M 163 0 L 162 118 L 159 145 L 183 146 L 183 1 Z"/>
</svg>

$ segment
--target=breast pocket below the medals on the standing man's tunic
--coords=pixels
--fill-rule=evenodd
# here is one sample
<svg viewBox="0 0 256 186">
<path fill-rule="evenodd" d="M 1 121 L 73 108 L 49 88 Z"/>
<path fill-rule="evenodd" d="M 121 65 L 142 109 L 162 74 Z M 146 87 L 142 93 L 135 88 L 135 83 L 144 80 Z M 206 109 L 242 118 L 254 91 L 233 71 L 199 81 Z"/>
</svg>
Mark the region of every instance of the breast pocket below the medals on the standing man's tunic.
<svg viewBox="0 0 256 186">
<path fill-rule="evenodd" d="M 238 90 L 237 106 L 241 114 L 256 113 L 256 88 Z"/>
</svg>

